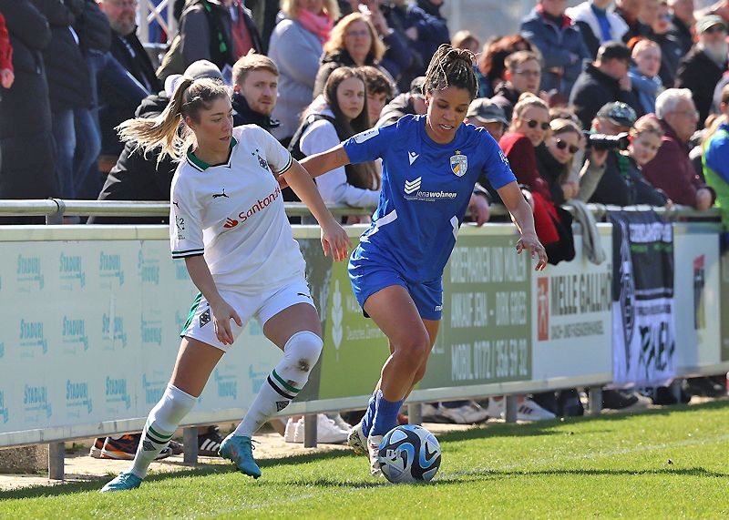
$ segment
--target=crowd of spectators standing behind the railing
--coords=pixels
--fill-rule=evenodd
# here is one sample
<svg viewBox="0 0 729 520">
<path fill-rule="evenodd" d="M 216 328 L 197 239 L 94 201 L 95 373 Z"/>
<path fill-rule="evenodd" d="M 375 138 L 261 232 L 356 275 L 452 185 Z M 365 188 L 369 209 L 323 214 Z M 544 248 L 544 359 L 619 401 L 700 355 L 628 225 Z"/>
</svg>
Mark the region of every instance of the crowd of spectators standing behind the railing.
<svg viewBox="0 0 729 520">
<path fill-rule="evenodd" d="M 0 199 L 167 199 L 175 164 L 115 128 L 159 114 L 180 75 L 210 67 L 234 87 L 236 124 L 264 127 L 298 157 L 423 114 L 426 64 L 451 41 L 444 1 L 176 0 L 180 29 L 158 66 L 139 40 L 138 0 L 0 0 Z M 553 263 L 574 256 L 571 200 L 726 210 L 727 16 L 724 0 L 703 12 L 693 0 L 537 0 L 515 34 L 483 46 L 453 35 L 476 54 L 467 122 L 504 150 Z M 371 206 L 379 175 L 365 164 L 317 183 L 328 203 Z M 481 219 L 497 197 L 482 184 Z M 484 412 L 463 407 L 437 410 Z"/>
</svg>

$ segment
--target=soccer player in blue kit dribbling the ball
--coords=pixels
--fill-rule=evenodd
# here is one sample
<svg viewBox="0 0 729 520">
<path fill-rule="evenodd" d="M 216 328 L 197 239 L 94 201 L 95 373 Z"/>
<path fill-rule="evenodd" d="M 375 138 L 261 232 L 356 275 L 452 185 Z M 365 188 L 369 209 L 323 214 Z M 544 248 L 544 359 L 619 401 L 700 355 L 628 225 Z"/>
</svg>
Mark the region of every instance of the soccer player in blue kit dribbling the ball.
<svg viewBox="0 0 729 520">
<path fill-rule="evenodd" d="M 383 159 L 379 205 L 349 260 L 354 295 L 385 332 L 391 351 L 363 420 L 349 436 L 355 452 L 369 454 L 372 474 L 381 474 L 383 435 L 396 426 L 400 406 L 426 372 L 443 309 L 443 270 L 482 173 L 519 230 L 517 252 L 536 255 L 536 270 L 547 265 L 507 158 L 486 129 L 463 124 L 477 95 L 473 59 L 469 51 L 440 46 L 427 68 L 425 116 L 402 117 L 302 161 L 317 177 Z"/>
</svg>

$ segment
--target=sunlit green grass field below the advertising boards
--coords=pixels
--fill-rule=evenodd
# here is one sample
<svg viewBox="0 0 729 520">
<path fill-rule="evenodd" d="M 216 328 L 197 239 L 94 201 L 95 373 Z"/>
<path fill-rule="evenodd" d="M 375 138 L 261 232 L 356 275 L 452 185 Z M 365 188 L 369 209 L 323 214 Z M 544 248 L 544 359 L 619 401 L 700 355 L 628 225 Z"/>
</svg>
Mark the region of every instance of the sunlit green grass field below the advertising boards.
<svg viewBox="0 0 729 520">
<path fill-rule="evenodd" d="M 0 518 L 674 518 L 729 517 L 729 402 L 440 437 L 430 484 L 395 485 L 362 456 L 151 475 L 132 492 L 101 483 L 0 493 Z"/>
</svg>

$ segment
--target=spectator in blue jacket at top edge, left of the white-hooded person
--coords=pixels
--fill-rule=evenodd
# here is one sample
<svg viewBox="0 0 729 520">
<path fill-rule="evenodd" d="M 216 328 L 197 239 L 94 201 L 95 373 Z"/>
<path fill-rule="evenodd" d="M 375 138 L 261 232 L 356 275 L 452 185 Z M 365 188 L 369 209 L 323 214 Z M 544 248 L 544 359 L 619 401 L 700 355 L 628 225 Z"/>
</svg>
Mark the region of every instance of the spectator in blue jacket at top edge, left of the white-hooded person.
<svg viewBox="0 0 729 520">
<path fill-rule="evenodd" d="M 541 89 L 556 89 L 567 98 L 580 76 L 582 61 L 590 57 L 590 52 L 580 29 L 564 14 L 564 8 L 564 0 L 539 0 L 521 21 L 519 33 L 541 52 Z"/>
</svg>

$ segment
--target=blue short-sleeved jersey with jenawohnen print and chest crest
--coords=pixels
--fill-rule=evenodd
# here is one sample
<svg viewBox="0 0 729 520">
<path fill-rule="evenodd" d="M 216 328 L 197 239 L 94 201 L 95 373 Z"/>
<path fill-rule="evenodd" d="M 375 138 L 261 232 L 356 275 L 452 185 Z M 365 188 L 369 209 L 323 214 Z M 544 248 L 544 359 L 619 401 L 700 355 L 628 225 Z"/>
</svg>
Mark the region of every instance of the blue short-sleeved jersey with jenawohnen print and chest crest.
<svg viewBox="0 0 729 520">
<path fill-rule="evenodd" d="M 344 151 L 353 163 L 383 159 L 379 204 L 354 255 L 414 282 L 443 275 L 482 173 L 494 189 L 516 181 L 486 129 L 461 125 L 450 143 L 438 144 L 426 134 L 425 116 L 357 134 Z"/>
</svg>

